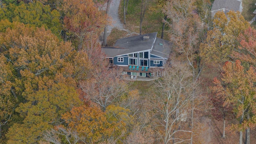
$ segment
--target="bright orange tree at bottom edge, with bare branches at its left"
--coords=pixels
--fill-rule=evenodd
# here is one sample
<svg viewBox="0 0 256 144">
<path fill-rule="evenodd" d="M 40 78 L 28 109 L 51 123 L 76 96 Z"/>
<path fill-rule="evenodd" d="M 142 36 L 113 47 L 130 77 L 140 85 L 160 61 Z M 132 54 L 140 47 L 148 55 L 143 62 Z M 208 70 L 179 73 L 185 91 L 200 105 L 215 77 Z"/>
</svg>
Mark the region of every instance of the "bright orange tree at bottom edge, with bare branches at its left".
<svg viewBox="0 0 256 144">
<path fill-rule="evenodd" d="M 107 117 L 96 106 L 82 105 L 74 107 L 71 112 L 62 115 L 67 127 L 55 126 L 44 133 L 44 140 L 54 144 L 67 142 L 69 144 L 84 143 L 92 144 L 107 142 L 115 132 L 121 132 L 121 123 L 108 122 Z"/>
</svg>

